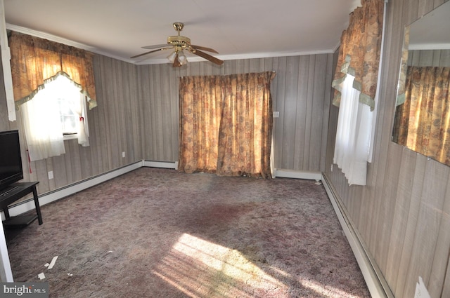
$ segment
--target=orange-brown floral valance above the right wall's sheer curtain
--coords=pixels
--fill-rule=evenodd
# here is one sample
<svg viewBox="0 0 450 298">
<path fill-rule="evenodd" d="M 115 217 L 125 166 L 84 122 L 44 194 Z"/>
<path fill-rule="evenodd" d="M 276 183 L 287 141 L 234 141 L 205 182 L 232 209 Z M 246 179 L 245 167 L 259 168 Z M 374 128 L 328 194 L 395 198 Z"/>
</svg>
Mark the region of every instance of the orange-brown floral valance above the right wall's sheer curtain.
<svg viewBox="0 0 450 298">
<path fill-rule="evenodd" d="M 361 91 L 359 102 L 375 107 L 384 0 L 361 0 L 362 7 L 350 14 L 349 27 L 342 32 L 338 65 L 333 80 L 333 104 L 339 107 L 342 82 L 347 74 L 355 77 L 353 88 Z"/>
</svg>

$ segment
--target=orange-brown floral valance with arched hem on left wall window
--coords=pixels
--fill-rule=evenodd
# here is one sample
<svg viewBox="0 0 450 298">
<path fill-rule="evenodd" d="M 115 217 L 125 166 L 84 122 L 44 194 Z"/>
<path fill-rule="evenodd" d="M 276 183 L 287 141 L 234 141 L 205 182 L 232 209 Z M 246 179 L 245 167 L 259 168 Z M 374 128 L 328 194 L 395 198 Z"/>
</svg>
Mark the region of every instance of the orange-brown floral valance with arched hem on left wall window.
<svg viewBox="0 0 450 298">
<path fill-rule="evenodd" d="M 16 105 L 31 100 L 46 81 L 64 75 L 89 97 L 89 109 L 96 107 L 94 54 L 18 32 L 11 32 L 8 43 Z"/>
</svg>

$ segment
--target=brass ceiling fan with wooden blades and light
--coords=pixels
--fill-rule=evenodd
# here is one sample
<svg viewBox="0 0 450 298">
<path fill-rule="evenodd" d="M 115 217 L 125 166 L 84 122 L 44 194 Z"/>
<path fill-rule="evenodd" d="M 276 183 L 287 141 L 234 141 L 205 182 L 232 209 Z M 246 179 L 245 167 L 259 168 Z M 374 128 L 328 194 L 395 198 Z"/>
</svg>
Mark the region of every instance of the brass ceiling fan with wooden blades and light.
<svg viewBox="0 0 450 298">
<path fill-rule="evenodd" d="M 150 51 L 146 53 L 142 53 L 139 55 L 135 55 L 131 57 L 131 59 L 136 57 L 141 57 L 143 55 L 147 55 L 150 53 L 155 53 L 160 50 L 170 50 L 174 51 L 167 57 L 170 62 L 172 62 L 173 67 L 181 67 L 181 65 L 185 65 L 188 60 L 186 55 L 184 55 L 184 50 L 187 50 L 189 53 L 193 53 L 194 55 L 198 55 L 200 57 L 205 58 L 217 65 L 221 65 L 224 61 L 213 57 L 210 54 L 203 52 L 203 50 L 211 53 L 217 53 L 217 50 L 213 50 L 212 48 L 206 48 L 204 46 L 195 46 L 191 44 L 191 39 L 186 36 L 180 35 L 181 30 L 183 30 L 184 24 L 182 22 L 174 22 L 174 29 L 178 32 L 176 36 L 167 37 L 167 44 L 155 44 L 153 46 L 143 46 L 142 48 L 147 48 Z"/>
</svg>

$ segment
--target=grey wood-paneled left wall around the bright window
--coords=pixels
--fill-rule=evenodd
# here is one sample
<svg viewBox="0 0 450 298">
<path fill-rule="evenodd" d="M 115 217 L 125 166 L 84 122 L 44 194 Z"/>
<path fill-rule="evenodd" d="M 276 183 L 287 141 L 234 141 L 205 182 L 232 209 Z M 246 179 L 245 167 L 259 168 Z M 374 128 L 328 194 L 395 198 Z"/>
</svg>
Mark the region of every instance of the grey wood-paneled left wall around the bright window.
<svg viewBox="0 0 450 298">
<path fill-rule="evenodd" d="M 97 55 L 94 74 L 98 107 L 88 111 L 90 146 L 81 147 L 77 140 L 68 140 L 65 154 L 32 163 L 27 162 L 21 112 L 16 112 L 17 121 L 8 121 L 1 81 L 0 130 L 19 130 L 24 181 L 39 181 L 39 194 L 44 194 L 141 160 L 142 103 L 137 92 L 137 69 L 136 65 Z M 54 179 L 49 180 L 49 171 L 53 171 Z"/>
</svg>

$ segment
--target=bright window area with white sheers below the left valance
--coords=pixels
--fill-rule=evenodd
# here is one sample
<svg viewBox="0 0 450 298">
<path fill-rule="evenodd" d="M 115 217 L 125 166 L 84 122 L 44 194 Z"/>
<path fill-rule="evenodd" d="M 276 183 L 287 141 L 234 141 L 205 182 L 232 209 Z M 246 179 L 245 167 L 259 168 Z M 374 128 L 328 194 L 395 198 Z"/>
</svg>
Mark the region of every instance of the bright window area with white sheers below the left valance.
<svg viewBox="0 0 450 298">
<path fill-rule="evenodd" d="M 65 153 L 64 140 L 89 146 L 86 96 L 63 74 L 46 81 L 32 100 L 21 107 L 30 159 Z"/>
</svg>

